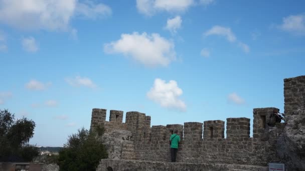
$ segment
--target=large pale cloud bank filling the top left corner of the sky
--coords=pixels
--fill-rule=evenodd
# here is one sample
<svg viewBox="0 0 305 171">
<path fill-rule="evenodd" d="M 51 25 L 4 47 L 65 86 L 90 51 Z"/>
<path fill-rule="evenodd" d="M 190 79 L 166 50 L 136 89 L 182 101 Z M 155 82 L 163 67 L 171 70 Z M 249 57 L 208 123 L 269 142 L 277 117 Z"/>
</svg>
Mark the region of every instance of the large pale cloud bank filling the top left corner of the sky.
<svg viewBox="0 0 305 171">
<path fill-rule="evenodd" d="M 20 29 L 68 30 L 74 15 L 96 18 L 111 14 L 90 0 L 0 0 L 0 22 Z"/>
</svg>

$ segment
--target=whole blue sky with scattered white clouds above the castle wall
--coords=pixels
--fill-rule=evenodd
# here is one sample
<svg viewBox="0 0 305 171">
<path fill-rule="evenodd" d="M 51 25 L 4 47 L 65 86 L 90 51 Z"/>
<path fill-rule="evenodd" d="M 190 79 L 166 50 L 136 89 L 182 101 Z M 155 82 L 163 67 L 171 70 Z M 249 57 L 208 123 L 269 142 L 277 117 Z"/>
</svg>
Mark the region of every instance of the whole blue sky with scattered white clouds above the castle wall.
<svg viewBox="0 0 305 171">
<path fill-rule="evenodd" d="M 303 0 L 0 0 L 0 108 L 62 146 L 92 108 L 151 125 L 283 111 L 305 74 Z M 125 120 L 125 119 L 124 119 Z"/>
</svg>

